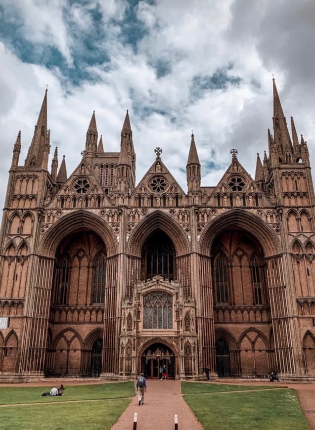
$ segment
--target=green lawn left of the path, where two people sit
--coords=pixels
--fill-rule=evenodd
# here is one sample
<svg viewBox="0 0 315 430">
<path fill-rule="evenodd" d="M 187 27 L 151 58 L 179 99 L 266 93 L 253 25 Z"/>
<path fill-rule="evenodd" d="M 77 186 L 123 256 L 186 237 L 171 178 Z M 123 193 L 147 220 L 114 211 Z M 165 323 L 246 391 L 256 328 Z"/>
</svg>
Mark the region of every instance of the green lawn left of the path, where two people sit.
<svg viewBox="0 0 315 430">
<path fill-rule="evenodd" d="M 0 387 L 1 404 L 21 404 L 0 407 L 0 429 L 110 429 L 135 395 L 135 384 L 69 386 L 57 397 L 42 397 L 44 391 L 48 387 Z"/>
</svg>

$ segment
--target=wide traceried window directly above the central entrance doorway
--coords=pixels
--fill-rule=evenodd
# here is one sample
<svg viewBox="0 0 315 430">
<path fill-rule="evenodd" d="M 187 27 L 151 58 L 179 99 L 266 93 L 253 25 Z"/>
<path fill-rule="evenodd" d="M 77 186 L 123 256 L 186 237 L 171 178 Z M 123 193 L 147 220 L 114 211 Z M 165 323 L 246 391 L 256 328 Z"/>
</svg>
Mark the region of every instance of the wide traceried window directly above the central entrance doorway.
<svg viewBox="0 0 315 430">
<path fill-rule="evenodd" d="M 143 297 L 143 328 L 173 328 L 173 296 L 164 291 L 153 291 Z"/>
</svg>

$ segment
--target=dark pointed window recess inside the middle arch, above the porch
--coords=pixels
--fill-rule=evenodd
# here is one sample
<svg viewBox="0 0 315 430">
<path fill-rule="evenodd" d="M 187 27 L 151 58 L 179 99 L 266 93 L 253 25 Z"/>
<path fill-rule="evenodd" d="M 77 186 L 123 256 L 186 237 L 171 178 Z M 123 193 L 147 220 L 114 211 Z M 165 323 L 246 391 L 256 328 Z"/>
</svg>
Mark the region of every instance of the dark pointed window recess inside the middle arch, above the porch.
<svg viewBox="0 0 315 430">
<path fill-rule="evenodd" d="M 165 279 L 175 278 L 175 248 L 162 231 L 153 234 L 142 249 L 141 279 L 161 275 Z"/>
</svg>

